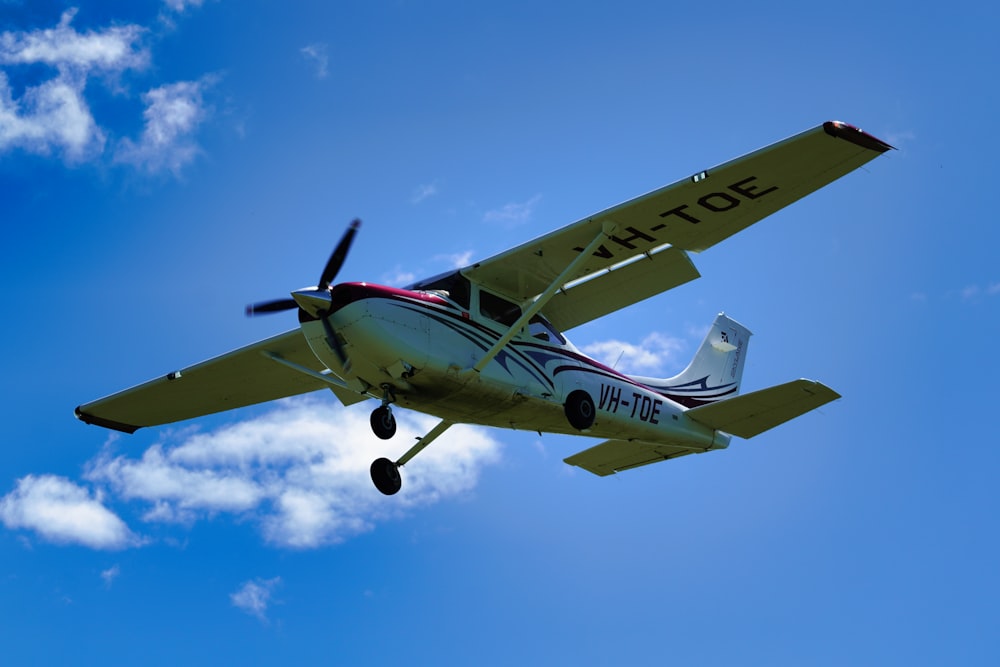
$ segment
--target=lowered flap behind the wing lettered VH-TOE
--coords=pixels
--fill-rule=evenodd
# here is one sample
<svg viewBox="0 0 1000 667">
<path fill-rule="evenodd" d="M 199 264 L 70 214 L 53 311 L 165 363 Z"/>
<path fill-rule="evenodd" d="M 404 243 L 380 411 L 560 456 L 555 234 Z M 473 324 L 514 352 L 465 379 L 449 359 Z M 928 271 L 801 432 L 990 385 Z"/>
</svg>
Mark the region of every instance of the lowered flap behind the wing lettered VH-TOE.
<svg viewBox="0 0 1000 667">
<path fill-rule="evenodd" d="M 545 317 L 557 329 L 568 331 L 700 275 L 686 252 L 662 246 L 570 285 L 552 297 L 544 308 Z"/>
</svg>

